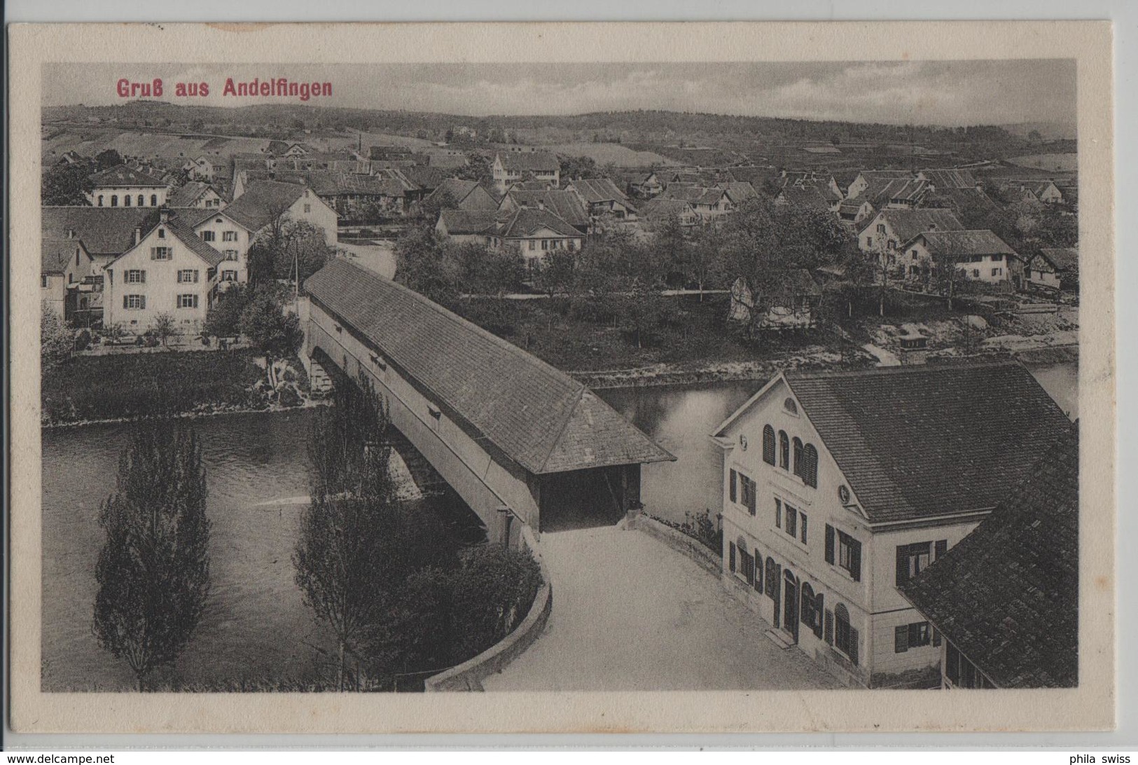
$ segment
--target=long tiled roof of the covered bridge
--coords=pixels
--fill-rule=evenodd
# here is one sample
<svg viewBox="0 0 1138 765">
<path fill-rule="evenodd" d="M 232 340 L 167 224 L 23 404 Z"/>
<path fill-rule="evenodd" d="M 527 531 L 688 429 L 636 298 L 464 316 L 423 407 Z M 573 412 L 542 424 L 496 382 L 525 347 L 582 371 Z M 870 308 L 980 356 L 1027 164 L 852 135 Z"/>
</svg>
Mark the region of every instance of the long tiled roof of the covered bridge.
<svg viewBox="0 0 1138 765">
<path fill-rule="evenodd" d="M 335 258 L 305 289 L 531 474 L 675 459 L 583 384 L 402 285 Z"/>
</svg>

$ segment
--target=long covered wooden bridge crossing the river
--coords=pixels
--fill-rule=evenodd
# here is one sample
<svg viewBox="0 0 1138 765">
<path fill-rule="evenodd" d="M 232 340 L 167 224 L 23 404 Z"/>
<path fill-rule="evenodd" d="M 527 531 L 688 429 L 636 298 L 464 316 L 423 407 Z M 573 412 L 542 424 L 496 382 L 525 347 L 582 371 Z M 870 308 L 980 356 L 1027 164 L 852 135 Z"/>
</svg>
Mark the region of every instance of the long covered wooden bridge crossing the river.
<svg viewBox="0 0 1138 765">
<path fill-rule="evenodd" d="M 640 501 L 640 466 L 675 459 L 580 382 L 402 285 L 337 258 L 305 289 L 303 353 L 371 379 L 490 541 L 516 542 L 514 519 L 615 523 Z"/>
</svg>

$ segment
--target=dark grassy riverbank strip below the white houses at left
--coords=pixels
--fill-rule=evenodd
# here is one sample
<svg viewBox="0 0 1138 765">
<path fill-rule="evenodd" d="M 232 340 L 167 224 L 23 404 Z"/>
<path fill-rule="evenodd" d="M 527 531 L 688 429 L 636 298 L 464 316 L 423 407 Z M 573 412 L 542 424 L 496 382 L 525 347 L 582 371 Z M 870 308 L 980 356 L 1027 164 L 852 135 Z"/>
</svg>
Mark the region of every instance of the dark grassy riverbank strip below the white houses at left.
<svg viewBox="0 0 1138 765">
<path fill-rule="evenodd" d="M 248 351 L 75 356 L 43 376 L 50 423 L 241 406 L 264 376 Z"/>
</svg>

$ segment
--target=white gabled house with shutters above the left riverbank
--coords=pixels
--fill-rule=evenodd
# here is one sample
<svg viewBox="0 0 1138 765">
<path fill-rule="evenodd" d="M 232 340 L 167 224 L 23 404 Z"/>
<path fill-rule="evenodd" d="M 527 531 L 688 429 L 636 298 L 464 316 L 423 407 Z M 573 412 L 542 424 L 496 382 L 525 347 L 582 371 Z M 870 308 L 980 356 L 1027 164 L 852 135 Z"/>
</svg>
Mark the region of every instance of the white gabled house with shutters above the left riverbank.
<svg viewBox="0 0 1138 765">
<path fill-rule="evenodd" d="M 168 314 L 179 334 L 201 330 L 224 256 L 166 211 L 104 270 L 104 323 L 142 334 Z"/>
</svg>

